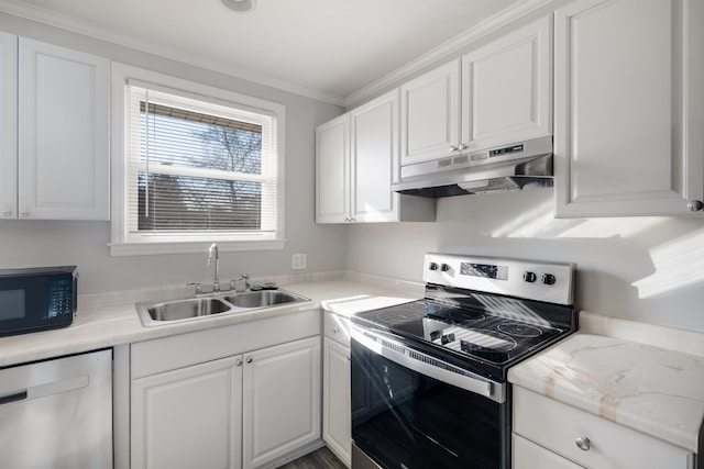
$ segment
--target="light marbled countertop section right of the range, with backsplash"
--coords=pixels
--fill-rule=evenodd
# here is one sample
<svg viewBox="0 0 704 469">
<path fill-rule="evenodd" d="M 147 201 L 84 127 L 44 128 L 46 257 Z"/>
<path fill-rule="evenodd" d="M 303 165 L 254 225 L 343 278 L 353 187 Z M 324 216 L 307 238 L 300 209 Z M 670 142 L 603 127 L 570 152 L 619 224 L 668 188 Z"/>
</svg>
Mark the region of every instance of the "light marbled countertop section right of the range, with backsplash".
<svg viewBox="0 0 704 469">
<path fill-rule="evenodd" d="M 509 369 L 508 380 L 698 453 L 704 334 L 582 312 L 578 333 Z"/>
</svg>

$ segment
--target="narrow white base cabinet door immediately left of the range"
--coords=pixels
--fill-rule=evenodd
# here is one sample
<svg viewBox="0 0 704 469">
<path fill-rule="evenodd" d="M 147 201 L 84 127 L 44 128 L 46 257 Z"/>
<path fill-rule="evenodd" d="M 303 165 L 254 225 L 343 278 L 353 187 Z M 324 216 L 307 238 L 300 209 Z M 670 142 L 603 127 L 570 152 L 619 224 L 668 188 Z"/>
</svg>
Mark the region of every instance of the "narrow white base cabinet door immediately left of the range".
<svg viewBox="0 0 704 469">
<path fill-rule="evenodd" d="M 350 466 L 350 348 L 327 337 L 323 342 L 322 377 L 322 439 L 332 453 Z"/>
</svg>

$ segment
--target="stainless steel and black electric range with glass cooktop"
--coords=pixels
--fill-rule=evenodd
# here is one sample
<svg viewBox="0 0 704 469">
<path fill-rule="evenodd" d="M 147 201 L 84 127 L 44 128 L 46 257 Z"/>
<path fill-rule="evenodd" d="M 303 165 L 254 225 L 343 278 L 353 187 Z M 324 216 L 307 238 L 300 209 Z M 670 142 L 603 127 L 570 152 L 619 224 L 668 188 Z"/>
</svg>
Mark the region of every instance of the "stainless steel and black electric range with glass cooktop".
<svg viewBox="0 0 704 469">
<path fill-rule="evenodd" d="M 424 300 L 352 319 L 352 468 L 510 467 L 510 366 L 576 330 L 573 264 L 428 254 Z"/>
</svg>

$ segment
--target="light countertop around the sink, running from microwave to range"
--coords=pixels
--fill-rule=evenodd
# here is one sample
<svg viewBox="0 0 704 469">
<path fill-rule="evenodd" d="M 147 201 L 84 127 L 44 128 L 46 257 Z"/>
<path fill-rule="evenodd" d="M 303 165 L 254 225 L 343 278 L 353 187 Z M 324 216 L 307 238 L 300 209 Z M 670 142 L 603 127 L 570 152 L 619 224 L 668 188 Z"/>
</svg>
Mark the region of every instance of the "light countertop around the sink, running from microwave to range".
<svg viewBox="0 0 704 469">
<path fill-rule="evenodd" d="M 346 312 L 382 308 L 422 297 L 424 284 L 350 271 L 263 279 L 309 298 L 309 302 L 210 316 L 190 322 L 145 327 L 140 321 L 138 301 L 169 301 L 193 295 L 189 288 L 143 289 L 107 294 L 79 295 L 78 310 L 70 326 L 31 334 L 0 337 L 0 367 L 43 360 L 117 345 L 186 334 L 266 317 L 294 314 L 311 309 Z M 343 306 L 344 305 L 344 306 Z"/>
</svg>

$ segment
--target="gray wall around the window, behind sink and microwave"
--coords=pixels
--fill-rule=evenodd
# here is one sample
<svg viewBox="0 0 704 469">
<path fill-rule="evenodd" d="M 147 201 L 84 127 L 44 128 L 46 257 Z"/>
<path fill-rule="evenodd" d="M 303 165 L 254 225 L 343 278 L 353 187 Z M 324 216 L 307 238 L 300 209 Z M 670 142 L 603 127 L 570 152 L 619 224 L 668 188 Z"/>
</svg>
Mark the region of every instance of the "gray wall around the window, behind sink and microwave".
<svg viewBox="0 0 704 469">
<path fill-rule="evenodd" d="M 315 224 L 315 127 L 342 113 L 341 108 L 3 13 L 0 13 L 0 31 L 285 104 L 285 249 L 221 253 L 221 276 L 287 273 L 292 271 L 293 253 L 308 254 L 308 271 L 344 267 L 344 226 Z M 108 222 L 3 220 L 0 221 L 0 268 L 76 264 L 81 293 L 211 279 L 205 252 L 110 257 L 109 241 Z"/>
</svg>

